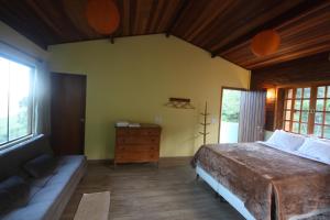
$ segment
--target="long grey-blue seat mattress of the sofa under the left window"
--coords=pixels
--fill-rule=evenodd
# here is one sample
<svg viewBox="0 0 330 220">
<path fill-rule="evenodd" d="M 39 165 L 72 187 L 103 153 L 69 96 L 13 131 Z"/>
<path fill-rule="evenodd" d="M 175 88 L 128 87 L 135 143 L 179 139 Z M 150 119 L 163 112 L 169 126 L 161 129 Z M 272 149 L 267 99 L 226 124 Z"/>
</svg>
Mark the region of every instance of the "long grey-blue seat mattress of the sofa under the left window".
<svg viewBox="0 0 330 220">
<path fill-rule="evenodd" d="M 64 198 L 68 199 L 72 193 L 69 188 L 76 186 L 80 179 L 79 173 L 85 170 L 85 156 L 63 156 L 58 158 L 54 173 L 42 177 L 31 178 L 31 193 L 29 204 L 25 207 L 15 209 L 4 216 L 2 220 L 29 219 L 29 220 L 50 220 L 57 219 L 58 210 L 65 207 Z M 63 205 L 64 204 L 64 205 Z"/>
</svg>

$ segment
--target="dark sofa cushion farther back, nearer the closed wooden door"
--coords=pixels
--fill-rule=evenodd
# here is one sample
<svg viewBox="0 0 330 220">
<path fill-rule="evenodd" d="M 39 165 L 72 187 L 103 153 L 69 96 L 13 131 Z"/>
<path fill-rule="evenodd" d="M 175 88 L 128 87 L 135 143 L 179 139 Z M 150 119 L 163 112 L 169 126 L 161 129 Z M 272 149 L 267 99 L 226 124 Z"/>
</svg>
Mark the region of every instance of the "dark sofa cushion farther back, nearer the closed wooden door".
<svg viewBox="0 0 330 220">
<path fill-rule="evenodd" d="M 34 178 L 41 178 L 52 173 L 56 166 L 53 155 L 42 154 L 24 164 L 24 169 Z"/>
</svg>

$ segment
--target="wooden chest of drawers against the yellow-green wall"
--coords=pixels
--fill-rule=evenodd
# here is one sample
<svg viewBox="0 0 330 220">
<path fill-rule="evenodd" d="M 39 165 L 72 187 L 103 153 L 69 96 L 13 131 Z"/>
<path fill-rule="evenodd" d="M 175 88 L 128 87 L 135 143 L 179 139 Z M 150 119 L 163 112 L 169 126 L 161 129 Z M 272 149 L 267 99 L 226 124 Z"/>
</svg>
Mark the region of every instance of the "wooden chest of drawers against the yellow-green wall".
<svg viewBox="0 0 330 220">
<path fill-rule="evenodd" d="M 114 164 L 160 161 L 161 127 L 116 128 Z"/>
</svg>

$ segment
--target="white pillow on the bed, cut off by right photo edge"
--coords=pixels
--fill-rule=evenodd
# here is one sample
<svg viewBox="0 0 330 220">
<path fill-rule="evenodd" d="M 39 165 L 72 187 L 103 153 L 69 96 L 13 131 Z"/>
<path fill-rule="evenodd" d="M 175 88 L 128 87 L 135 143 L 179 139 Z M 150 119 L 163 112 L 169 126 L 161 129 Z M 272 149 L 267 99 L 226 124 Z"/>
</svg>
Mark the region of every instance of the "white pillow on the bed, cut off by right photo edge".
<svg viewBox="0 0 330 220">
<path fill-rule="evenodd" d="M 318 161 L 330 163 L 330 143 L 317 139 L 306 139 L 298 152 Z"/>
</svg>

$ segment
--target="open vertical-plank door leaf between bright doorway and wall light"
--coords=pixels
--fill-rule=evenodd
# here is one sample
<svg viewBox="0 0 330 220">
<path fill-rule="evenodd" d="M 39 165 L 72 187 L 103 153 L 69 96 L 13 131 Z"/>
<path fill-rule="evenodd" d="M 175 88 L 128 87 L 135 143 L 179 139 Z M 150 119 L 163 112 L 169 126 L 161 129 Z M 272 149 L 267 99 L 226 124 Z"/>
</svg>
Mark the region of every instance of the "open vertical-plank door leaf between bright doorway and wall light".
<svg viewBox="0 0 330 220">
<path fill-rule="evenodd" d="M 264 140 L 265 103 L 265 91 L 242 91 L 239 142 Z"/>
</svg>

